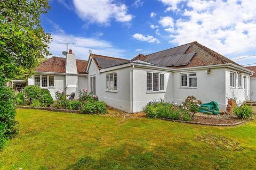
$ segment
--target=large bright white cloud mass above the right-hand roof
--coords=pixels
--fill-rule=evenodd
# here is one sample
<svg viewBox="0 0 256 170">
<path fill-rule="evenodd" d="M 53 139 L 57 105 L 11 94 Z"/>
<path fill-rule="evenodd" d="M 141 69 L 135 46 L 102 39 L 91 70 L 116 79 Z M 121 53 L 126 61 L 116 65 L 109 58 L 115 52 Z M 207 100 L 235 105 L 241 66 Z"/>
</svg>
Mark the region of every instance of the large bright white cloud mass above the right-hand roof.
<svg viewBox="0 0 256 170">
<path fill-rule="evenodd" d="M 185 44 L 197 40 L 223 55 L 243 54 L 256 48 L 255 0 L 162 0 L 180 10 L 175 22 L 161 18 L 159 23 L 170 32 L 170 42 Z M 189 7 L 185 9 L 183 4 Z M 165 20 L 163 20 L 165 19 Z"/>
</svg>

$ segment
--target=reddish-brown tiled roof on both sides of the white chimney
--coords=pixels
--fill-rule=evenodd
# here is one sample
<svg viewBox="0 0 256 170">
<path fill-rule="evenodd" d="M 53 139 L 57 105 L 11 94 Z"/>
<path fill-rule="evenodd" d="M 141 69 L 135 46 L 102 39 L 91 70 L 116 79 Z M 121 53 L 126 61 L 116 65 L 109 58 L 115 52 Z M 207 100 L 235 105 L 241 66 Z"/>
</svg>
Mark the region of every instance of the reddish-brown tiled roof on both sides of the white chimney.
<svg viewBox="0 0 256 170">
<path fill-rule="evenodd" d="M 87 67 L 86 60 L 76 60 L 78 74 L 85 74 Z M 36 72 L 66 73 L 66 58 L 53 56 L 39 64 Z"/>
</svg>

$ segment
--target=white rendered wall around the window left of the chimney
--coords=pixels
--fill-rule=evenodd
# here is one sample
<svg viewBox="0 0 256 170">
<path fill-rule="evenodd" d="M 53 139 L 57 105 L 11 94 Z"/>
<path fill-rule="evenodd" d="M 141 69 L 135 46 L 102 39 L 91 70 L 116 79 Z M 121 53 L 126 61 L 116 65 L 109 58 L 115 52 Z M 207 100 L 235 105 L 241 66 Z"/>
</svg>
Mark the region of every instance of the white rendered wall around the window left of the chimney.
<svg viewBox="0 0 256 170">
<path fill-rule="evenodd" d="M 40 74 L 37 74 L 37 75 L 40 75 Z M 43 75 L 46 75 L 46 74 L 43 74 Z M 53 74 L 49 74 L 49 75 L 53 75 Z M 56 100 L 55 92 L 56 91 L 62 92 L 65 88 L 65 84 L 66 84 L 65 75 L 54 75 L 54 87 L 42 88 L 42 89 L 48 89 L 50 91 L 52 98 Z M 34 75 L 33 77 L 28 79 L 28 85 L 34 85 Z"/>
</svg>

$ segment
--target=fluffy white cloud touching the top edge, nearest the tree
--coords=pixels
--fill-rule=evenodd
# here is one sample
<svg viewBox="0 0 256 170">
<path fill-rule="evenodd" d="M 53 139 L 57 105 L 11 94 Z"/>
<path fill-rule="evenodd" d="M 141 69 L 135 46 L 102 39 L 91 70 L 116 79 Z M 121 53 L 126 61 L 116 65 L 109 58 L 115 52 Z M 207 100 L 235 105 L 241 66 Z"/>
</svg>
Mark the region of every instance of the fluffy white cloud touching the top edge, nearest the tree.
<svg viewBox="0 0 256 170">
<path fill-rule="evenodd" d="M 74 0 L 76 13 L 83 20 L 91 23 L 109 24 L 114 18 L 118 22 L 129 22 L 133 16 L 127 14 L 127 6 L 122 3 L 115 3 L 113 0 Z"/>
</svg>

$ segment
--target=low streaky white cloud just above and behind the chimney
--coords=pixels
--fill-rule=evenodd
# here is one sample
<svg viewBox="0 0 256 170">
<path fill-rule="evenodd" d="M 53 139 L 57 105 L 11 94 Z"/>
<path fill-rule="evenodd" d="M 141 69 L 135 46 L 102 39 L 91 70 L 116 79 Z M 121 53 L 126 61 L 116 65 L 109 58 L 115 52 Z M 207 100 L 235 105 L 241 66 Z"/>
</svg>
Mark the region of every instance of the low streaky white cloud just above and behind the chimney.
<svg viewBox="0 0 256 170">
<path fill-rule="evenodd" d="M 66 51 L 66 45 L 60 43 L 75 43 L 75 45 L 69 45 L 68 48 L 73 50 L 77 58 L 84 60 L 88 59 L 90 49 L 95 54 L 117 57 L 124 56 L 125 53 L 125 50 L 115 48 L 108 41 L 101 39 L 78 37 L 65 33 L 52 34 L 52 37 L 53 41 L 49 46 L 51 54 L 55 56 L 62 56 L 61 52 Z"/>
</svg>

